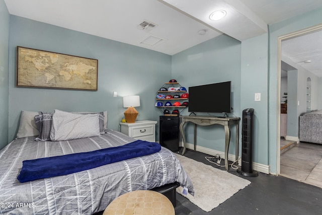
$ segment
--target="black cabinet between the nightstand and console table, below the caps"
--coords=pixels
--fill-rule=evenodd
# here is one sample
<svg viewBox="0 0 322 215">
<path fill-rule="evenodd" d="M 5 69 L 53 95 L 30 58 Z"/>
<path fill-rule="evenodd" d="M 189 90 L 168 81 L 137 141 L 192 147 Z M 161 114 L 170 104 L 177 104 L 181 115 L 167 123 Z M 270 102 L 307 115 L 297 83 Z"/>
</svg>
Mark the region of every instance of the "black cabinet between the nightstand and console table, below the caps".
<svg viewBox="0 0 322 215">
<path fill-rule="evenodd" d="M 179 151 L 179 116 L 160 116 L 160 145 Z"/>
</svg>

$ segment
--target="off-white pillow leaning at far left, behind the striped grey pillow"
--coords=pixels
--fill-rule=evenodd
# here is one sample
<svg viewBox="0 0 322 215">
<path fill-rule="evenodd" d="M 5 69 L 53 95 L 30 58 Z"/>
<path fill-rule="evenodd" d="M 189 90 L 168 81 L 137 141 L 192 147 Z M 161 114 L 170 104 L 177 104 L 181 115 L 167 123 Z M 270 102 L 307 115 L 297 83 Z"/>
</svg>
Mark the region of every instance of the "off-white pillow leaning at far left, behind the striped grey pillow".
<svg viewBox="0 0 322 215">
<path fill-rule="evenodd" d="M 16 138 L 39 135 L 39 130 L 35 122 L 35 116 L 38 114 L 39 112 L 36 111 L 21 111 L 20 123 Z"/>
</svg>

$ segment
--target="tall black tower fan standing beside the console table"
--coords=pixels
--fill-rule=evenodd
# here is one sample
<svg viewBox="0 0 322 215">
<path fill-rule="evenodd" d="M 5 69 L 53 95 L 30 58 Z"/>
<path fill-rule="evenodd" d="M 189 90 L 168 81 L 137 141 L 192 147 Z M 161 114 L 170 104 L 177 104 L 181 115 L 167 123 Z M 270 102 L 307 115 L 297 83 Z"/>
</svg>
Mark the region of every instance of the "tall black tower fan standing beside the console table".
<svg viewBox="0 0 322 215">
<path fill-rule="evenodd" d="M 243 110 L 241 128 L 241 170 L 237 172 L 247 177 L 257 177 L 258 172 L 253 171 L 253 116 L 254 109 Z"/>
</svg>

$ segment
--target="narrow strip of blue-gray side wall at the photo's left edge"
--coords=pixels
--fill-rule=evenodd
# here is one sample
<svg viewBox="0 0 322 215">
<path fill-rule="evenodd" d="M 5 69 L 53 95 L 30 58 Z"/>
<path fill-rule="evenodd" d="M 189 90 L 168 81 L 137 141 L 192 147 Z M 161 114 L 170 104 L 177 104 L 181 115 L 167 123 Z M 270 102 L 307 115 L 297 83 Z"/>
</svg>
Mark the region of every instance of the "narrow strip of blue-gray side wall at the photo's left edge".
<svg viewBox="0 0 322 215">
<path fill-rule="evenodd" d="M 0 0 L 0 149 L 8 144 L 8 43 L 9 12 Z"/>
</svg>

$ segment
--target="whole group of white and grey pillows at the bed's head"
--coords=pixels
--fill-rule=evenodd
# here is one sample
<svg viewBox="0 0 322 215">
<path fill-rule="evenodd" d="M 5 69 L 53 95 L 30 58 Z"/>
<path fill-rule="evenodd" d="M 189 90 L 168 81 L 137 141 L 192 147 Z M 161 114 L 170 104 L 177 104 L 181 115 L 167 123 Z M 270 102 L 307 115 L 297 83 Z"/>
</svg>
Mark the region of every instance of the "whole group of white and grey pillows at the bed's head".
<svg viewBox="0 0 322 215">
<path fill-rule="evenodd" d="M 54 113 L 22 111 L 17 138 L 37 136 L 38 141 L 63 141 L 103 134 L 107 126 L 105 112 L 65 112 Z"/>
</svg>

